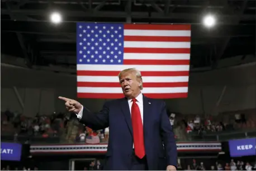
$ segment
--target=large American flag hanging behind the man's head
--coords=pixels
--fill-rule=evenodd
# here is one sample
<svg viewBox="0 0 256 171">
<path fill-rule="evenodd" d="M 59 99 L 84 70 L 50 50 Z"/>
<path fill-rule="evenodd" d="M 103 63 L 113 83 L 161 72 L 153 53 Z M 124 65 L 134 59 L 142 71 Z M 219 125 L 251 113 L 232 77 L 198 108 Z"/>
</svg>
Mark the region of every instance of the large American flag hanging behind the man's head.
<svg viewBox="0 0 256 171">
<path fill-rule="evenodd" d="M 188 94 L 190 25 L 77 23 L 78 98 L 122 98 L 118 73 L 140 70 L 151 98 Z"/>
</svg>

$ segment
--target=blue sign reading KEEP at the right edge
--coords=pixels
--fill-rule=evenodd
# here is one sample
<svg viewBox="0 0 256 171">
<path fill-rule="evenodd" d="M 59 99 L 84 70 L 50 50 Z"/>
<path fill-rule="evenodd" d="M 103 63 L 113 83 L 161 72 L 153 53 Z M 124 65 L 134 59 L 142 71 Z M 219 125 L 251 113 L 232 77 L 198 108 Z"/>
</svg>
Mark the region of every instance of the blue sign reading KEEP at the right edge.
<svg viewBox="0 0 256 171">
<path fill-rule="evenodd" d="M 230 140 L 229 151 L 231 157 L 256 155 L 256 138 Z"/>
</svg>

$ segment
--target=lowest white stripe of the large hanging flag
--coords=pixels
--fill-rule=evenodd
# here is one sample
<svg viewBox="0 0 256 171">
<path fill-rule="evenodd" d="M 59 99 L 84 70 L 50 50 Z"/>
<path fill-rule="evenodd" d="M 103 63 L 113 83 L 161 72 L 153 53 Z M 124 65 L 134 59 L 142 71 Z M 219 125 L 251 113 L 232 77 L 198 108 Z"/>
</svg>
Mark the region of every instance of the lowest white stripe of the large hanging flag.
<svg viewBox="0 0 256 171">
<path fill-rule="evenodd" d="M 78 87 L 78 93 L 122 93 L 120 87 Z M 142 93 L 187 93 L 188 87 L 145 87 Z"/>
</svg>

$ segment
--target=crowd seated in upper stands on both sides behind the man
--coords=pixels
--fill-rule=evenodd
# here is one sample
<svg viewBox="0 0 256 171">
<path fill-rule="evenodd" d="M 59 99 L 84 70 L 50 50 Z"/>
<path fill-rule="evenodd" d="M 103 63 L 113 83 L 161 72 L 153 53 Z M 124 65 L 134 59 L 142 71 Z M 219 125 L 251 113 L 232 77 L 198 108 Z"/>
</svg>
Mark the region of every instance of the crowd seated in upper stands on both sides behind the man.
<svg viewBox="0 0 256 171">
<path fill-rule="evenodd" d="M 212 117 L 200 115 L 181 115 L 169 112 L 170 124 L 179 140 L 189 140 L 189 136 L 216 134 L 237 129 L 256 129 L 256 115 L 229 115 Z M 233 119 L 230 119 L 233 117 Z M 246 119 L 247 118 L 247 119 Z M 47 116 L 26 117 L 10 110 L 1 112 L 1 132 L 3 135 L 29 137 L 61 137 L 64 143 L 107 143 L 109 129 L 91 130 L 79 124 L 75 115 L 67 113 L 51 113 Z"/>
</svg>

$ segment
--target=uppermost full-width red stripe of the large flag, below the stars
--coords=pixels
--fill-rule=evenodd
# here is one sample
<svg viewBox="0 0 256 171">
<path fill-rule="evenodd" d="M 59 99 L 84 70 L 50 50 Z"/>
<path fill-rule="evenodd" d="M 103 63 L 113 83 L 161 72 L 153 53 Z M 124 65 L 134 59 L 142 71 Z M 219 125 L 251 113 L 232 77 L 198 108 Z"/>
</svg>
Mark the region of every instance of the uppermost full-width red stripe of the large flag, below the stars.
<svg viewBox="0 0 256 171">
<path fill-rule="evenodd" d="M 120 73 L 120 71 L 94 71 L 94 70 L 78 70 L 77 75 L 78 76 L 86 76 L 86 75 L 92 75 L 92 76 L 116 76 Z M 173 72 L 141 72 L 141 75 L 143 77 L 155 77 L 155 76 L 188 76 L 189 71 L 173 71 Z"/>
</svg>

